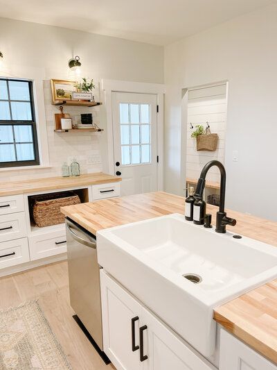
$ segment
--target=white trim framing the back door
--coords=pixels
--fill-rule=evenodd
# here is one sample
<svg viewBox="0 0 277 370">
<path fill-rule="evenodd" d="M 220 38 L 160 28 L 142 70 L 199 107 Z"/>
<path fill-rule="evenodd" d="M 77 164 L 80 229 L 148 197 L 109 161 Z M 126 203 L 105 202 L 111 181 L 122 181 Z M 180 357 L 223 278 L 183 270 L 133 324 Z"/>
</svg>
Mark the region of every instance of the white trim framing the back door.
<svg viewBox="0 0 277 370">
<path fill-rule="evenodd" d="M 164 117 L 164 94 L 165 85 L 161 83 L 141 83 L 132 81 L 106 80 L 102 79 L 102 90 L 105 92 L 105 105 L 107 113 L 107 154 L 108 173 L 114 175 L 114 134 L 112 121 L 112 93 L 129 92 L 137 94 L 157 95 L 157 190 L 163 191 L 163 117 Z"/>
</svg>

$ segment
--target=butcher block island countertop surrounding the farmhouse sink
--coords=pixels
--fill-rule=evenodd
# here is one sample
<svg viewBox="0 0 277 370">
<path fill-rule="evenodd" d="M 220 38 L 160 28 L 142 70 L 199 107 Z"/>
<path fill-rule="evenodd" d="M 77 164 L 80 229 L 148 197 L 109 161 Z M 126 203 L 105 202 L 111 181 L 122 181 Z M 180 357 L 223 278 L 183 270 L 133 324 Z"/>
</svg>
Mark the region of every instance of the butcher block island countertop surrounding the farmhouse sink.
<svg viewBox="0 0 277 370">
<path fill-rule="evenodd" d="M 62 208 L 62 212 L 95 235 L 103 228 L 171 213 L 184 214 L 184 198 L 155 192 L 70 205 Z M 217 207 L 207 205 L 213 223 L 216 212 Z M 276 222 L 232 210 L 227 210 L 227 214 L 237 220 L 235 227 L 227 227 L 232 232 L 277 246 Z M 277 279 L 220 306 L 215 310 L 214 318 L 277 364 Z"/>
</svg>

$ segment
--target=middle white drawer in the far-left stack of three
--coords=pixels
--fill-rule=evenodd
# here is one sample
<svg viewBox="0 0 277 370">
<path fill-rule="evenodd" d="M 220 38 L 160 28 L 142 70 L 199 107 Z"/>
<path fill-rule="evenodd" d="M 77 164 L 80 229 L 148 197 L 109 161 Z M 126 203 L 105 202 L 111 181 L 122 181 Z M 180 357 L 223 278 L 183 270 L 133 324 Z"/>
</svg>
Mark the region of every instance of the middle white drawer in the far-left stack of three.
<svg viewBox="0 0 277 370">
<path fill-rule="evenodd" d="M 0 216 L 0 242 L 26 237 L 25 212 Z"/>
</svg>

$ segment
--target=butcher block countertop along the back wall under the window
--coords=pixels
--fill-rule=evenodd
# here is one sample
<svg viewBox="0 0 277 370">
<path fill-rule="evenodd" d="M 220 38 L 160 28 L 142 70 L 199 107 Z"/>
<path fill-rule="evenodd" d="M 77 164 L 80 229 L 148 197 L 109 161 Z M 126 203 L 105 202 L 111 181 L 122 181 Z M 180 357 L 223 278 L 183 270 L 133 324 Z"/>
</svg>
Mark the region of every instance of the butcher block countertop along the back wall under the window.
<svg viewBox="0 0 277 370">
<path fill-rule="evenodd" d="M 13 183 L 0 183 L 0 196 L 15 194 L 26 194 L 30 192 L 43 192 L 44 190 L 66 189 L 68 187 L 79 187 L 86 185 L 99 185 L 116 183 L 121 181 L 118 176 L 111 176 L 97 172 L 95 174 L 84 174 L 76 177 L 48 177 L 35 180 L 21 180 Z"/>
</svg>

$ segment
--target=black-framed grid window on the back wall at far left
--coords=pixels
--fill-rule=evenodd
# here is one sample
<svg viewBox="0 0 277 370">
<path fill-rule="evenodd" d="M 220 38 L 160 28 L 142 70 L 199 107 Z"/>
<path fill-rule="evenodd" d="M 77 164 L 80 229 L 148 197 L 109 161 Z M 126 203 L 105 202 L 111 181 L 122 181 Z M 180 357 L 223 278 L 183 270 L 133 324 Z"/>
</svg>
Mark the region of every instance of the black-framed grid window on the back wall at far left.
<svg viewBox="0 0 277 370">
<path fill-rule="evenodd" d="M 0 167 L 39 165 L 32 81 L 0 78 Z"/>
</svg>

